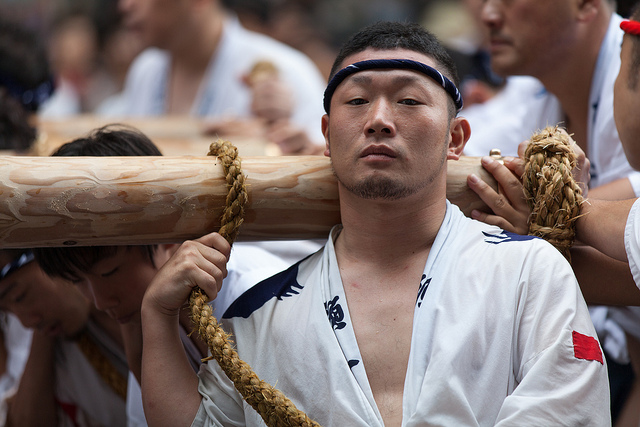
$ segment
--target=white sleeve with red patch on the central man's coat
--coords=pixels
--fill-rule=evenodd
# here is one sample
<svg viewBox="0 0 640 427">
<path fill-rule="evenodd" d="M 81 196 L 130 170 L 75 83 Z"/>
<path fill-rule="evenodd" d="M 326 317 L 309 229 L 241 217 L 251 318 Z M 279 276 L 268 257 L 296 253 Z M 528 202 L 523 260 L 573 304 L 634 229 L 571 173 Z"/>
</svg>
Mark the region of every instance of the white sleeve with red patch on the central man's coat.
<svg viewBox="0 0 640 427">
<path fill-rule="evenodd" d="M 573 271 L 557 251 L 530 261 L 517 301 L 515 389 L 496 425 L 611 425 L 607 366 Z"/>
</svg>

